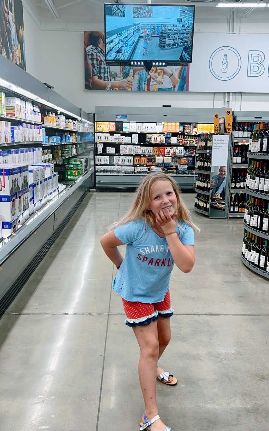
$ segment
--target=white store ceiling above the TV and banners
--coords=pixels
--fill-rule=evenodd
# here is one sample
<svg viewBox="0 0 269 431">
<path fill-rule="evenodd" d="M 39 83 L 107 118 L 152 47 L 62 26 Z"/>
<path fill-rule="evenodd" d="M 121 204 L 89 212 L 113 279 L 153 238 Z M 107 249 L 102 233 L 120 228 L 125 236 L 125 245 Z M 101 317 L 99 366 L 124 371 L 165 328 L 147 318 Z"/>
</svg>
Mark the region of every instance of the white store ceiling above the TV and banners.
<svg viewBox="0 0 269 431">
<path fill-rule="evenodd" d="M 109 3 L 107 0 L 52 0 L 60 18 L 56 19 L 47 7 L 45 0 L 27 0 L 31 3 L 38 15 L 41 25 L 48 25 L 49 23 L 56 25 L 59 24 L 84 24 L 88 28 L 103 28 L 103 4 Z M 223 0 L 219 0 L 223 1 Z M 244 0 L 245 2 L 246 0 Z M 111 1 L 111 3 L 113 0 Z M 121 0 L 120 3 L 147 3 L 147 0 Z M 171 4 L 175 5 L 176 0 L 151 0 L 151 4 Z M 210 22 L 210 19 L 218 19 L 225 21 L 231 9 L 216 8 L 218 0 L 179 0 L 178 3 L 195 4 L 197 5 L 195 11 L 196 22 Z M 243 16 L 247 8 L 237 9 L 238 19 Z M 266 21 L 269 22 L 269 8 L 254 9 L 251 12 L 251 20 L 258 21 L 261 17 L 266 16 Z M 249 18 L 250 19 L 250 18 Z M 94 29 L 95 29 L 94 28 Z"/>
</svg>

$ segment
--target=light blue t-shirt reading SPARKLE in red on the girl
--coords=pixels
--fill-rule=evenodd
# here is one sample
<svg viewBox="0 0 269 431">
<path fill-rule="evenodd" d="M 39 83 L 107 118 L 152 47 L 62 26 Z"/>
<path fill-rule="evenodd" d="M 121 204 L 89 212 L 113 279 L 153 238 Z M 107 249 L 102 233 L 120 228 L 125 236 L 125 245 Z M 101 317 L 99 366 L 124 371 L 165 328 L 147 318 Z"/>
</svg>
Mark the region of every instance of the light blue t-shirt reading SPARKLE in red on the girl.
<svg viewBox="0 0 269 431">
<path fill-rule="evenodd" d="M 175 230 L 184 245 L 194 245 L 194 231 L 178 221 Z M 113 290 L 127 301 L 162 302 L 169 289 L 174 260 L 166 238 L 157 235 L 143 219 L 117 226 L 114 233 L 127 244 L 125 259 L 113 280 Z"/>
</svg>

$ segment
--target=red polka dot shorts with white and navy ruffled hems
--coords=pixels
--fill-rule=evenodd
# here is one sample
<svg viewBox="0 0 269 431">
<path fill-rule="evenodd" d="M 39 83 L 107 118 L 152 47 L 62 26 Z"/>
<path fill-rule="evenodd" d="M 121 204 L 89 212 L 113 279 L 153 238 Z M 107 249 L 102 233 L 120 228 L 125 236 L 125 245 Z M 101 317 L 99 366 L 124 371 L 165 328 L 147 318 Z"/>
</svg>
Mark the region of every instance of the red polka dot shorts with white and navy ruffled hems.
<svg viewBox="0 0 269 431">
<path fill-rule="evenodd" d="M 130 302 L 122 298 L 122 303 L 127 317 L 125 324 L 131 327 L 149 325 L 154 320 L 158 320 L 159 317 L 171 317 L 174 314 L 174 310 L 171 308 L 169 290 L 162 302 L 146 304 Z"/>
</svg>

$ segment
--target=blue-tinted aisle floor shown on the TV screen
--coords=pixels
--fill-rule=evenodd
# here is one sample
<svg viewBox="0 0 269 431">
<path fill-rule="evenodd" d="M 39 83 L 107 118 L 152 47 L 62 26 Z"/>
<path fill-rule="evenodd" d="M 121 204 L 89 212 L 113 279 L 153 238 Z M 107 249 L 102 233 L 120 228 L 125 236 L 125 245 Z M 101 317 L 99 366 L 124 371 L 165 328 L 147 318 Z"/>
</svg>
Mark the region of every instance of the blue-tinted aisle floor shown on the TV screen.
<svg viewBox="0 0 269 431">
<path fill-rule="evenodd" d="M 175 60 L 175 58 L 178 59 L 181 56 L 182 50 L 183 47 L 161 50 L 159 48 L 159 37 L 150 37 L 150 41 L 147 46 L 147 54 L 143 55 L 143 37 L 141 37 L 134 50 L 132 59 L 159 60 L 161 58 L 162 60 Z"/>
</svg>

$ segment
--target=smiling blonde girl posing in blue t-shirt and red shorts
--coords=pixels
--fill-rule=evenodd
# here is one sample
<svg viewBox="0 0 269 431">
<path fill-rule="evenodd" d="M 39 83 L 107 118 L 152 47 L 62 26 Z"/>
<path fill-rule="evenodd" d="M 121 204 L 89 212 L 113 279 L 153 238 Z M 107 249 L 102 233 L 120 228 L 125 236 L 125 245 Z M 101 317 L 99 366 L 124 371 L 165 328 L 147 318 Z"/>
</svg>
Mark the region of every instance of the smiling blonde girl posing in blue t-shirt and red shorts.
<svg viewBox="0 0 269 431">
<path fill-rule="evenodd" d="M 139 381 L 145 410 L 140 430 L 168 431 L 156 403 L 156 378 L 173 386 L 177 379 L 157 366 L 170 341 L 169 281 L 174 266 L 183 272 L 194 265 L 194 230 L 178 184 L 163 172 L 141 182 L 129 212 L 114 223 L 100 242 L 118 272 L 113 290 L 122 296 L 126 325 L 140 347 Z M 127 244 L 125 258 L 118 250 Z"/>
</svg>

